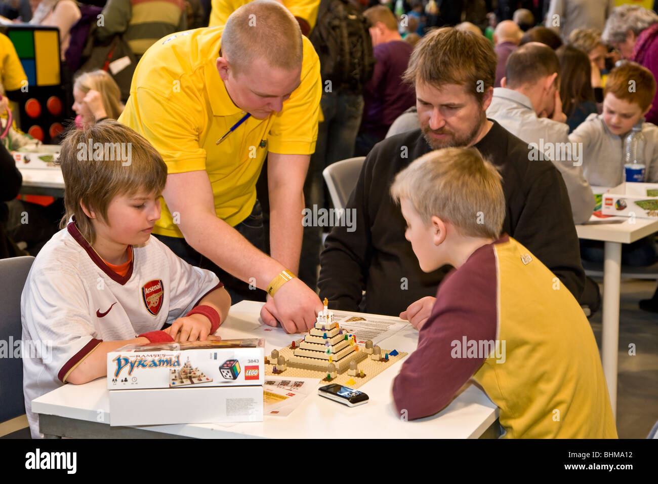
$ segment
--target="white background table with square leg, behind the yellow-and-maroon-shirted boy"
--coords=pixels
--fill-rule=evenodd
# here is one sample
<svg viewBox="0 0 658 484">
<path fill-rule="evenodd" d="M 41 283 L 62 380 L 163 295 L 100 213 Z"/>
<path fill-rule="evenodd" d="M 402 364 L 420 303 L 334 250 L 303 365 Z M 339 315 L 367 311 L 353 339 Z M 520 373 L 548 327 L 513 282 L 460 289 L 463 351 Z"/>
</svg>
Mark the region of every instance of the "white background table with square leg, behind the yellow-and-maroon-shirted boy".
<svg viewBox="0 0 658 484">
<path fill-rule="evenodd" d="M 647 235 L 658 232 L 658 220 L 638 219 L 630 223 L 628 217 L 622 223 L 601 225 L 576 225 L 578 238 L 601 240 L 604 244 L 603 261 L 603 328 L 601 336 L 601 361 L 610 392 L 613 415 L 617 416 L 617 359 L 619 353 L 619 286 L 621 281 L 621 244 L 630 244 Z M 592 215 L 592 220 L 597 219 Z"/>
</svg>

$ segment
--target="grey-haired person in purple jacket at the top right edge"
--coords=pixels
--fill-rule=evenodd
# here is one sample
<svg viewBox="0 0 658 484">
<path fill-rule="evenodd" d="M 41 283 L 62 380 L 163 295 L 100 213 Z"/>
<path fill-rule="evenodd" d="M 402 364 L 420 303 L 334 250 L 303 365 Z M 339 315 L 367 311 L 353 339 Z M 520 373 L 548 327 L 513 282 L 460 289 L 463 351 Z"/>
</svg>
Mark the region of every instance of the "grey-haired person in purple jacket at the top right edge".
<svg viewBox="0 0 658 484">
<path fill-rule="evenodd" d="M 638 5 L 617 7 L 605 23 L 602 38 L 624 59 L 646 67 L 658 78 L 658 14 Z M 658 124 L 658 94 L 645 119 Z"/>
</svg>

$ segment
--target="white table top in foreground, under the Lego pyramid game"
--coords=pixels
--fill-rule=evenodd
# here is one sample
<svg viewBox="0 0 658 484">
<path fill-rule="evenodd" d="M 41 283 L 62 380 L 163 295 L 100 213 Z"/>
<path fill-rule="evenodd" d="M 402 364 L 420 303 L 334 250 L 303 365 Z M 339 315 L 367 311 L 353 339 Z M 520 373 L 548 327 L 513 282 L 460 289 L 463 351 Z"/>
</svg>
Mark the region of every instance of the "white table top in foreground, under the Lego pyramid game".
<svg viewBox="0 0 658 484">
<path fill-rule="evenodd" d="M 290 340 L 281 328 L 263 333 L 259 323 L 261 303 L 243 301 L 232 306 L 230 315 L 220 327 L 222 338 L 265 335 L 268 354 Z M 413 352 L 418 331 L 408 325 L 380 343 L 382 348 Z M 349 408 L 317 394 L 309 395 L 288 417 L 265 416 L 263 422 L 197 423 L 190 425 L 150 425 L 140 429 L 199 438 L 324 438 L 344 439 L 348 435 L 372 438 L 477 438 L 498 416 L 498 409 L 475 385 L 468 385 L 449 406 L 432 417 L 401 421 L 391 396 L 392 380 L 401 362 L 394 363 L 359 390 L 370 396 L 365 405 Z M 56 415 L 87 421 L 110 421 L 107 381 L 100 378 L 84 385 L 64 385 L 32 402 L 40 414 Z"/>
</svg>

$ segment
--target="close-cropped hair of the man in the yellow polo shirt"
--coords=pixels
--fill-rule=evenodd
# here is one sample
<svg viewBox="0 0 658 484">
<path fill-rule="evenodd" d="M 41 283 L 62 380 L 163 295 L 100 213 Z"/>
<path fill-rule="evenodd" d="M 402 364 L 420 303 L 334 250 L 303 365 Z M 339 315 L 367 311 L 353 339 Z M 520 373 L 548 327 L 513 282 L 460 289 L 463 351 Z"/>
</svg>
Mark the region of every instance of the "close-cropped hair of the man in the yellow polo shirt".
<svg viewBox="0 0 658 484">
<path fill-rule="evenodd" d="M 298 70 L 303 58 L 297 20 L 273 0 L 255 0 L 230 14 L 221 49 L 236 74 L 248 70 L 255 59 L 265 59 L 272 68 Z"/>
</svg>

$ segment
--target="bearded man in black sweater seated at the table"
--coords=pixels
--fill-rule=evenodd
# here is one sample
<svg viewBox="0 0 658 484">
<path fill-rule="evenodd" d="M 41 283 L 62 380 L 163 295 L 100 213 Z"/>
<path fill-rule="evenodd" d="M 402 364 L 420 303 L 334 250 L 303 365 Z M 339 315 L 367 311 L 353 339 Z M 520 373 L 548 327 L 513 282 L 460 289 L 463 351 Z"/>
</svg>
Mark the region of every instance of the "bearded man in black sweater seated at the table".
<svg viewBox="0 0 658 484">
<path fill-rule="evenodd" d="M 507 205 L 503 232 L 553 271 L 555 290 L 580 298 L 585 273 L 561 174 L 486 118 L 495 67 L 484 36 L 441 28 L 418 43 L 405 78 L 415 84 L 420 130 L 387 138 L 368 154 L 346 207 L 355 223 L 334 227 L 320 256 L 320 298 L 328 298 L 331 308 L 400 315 L 415 326 L 430 315 L 438 284 L 451 268 L 420 270 L 389 189 L 411 161 L 449 146 L 474 146 L 499 167 Z M 483 219 L 487 211 L 483 206 L 469 216 Z"/>
</svg>

